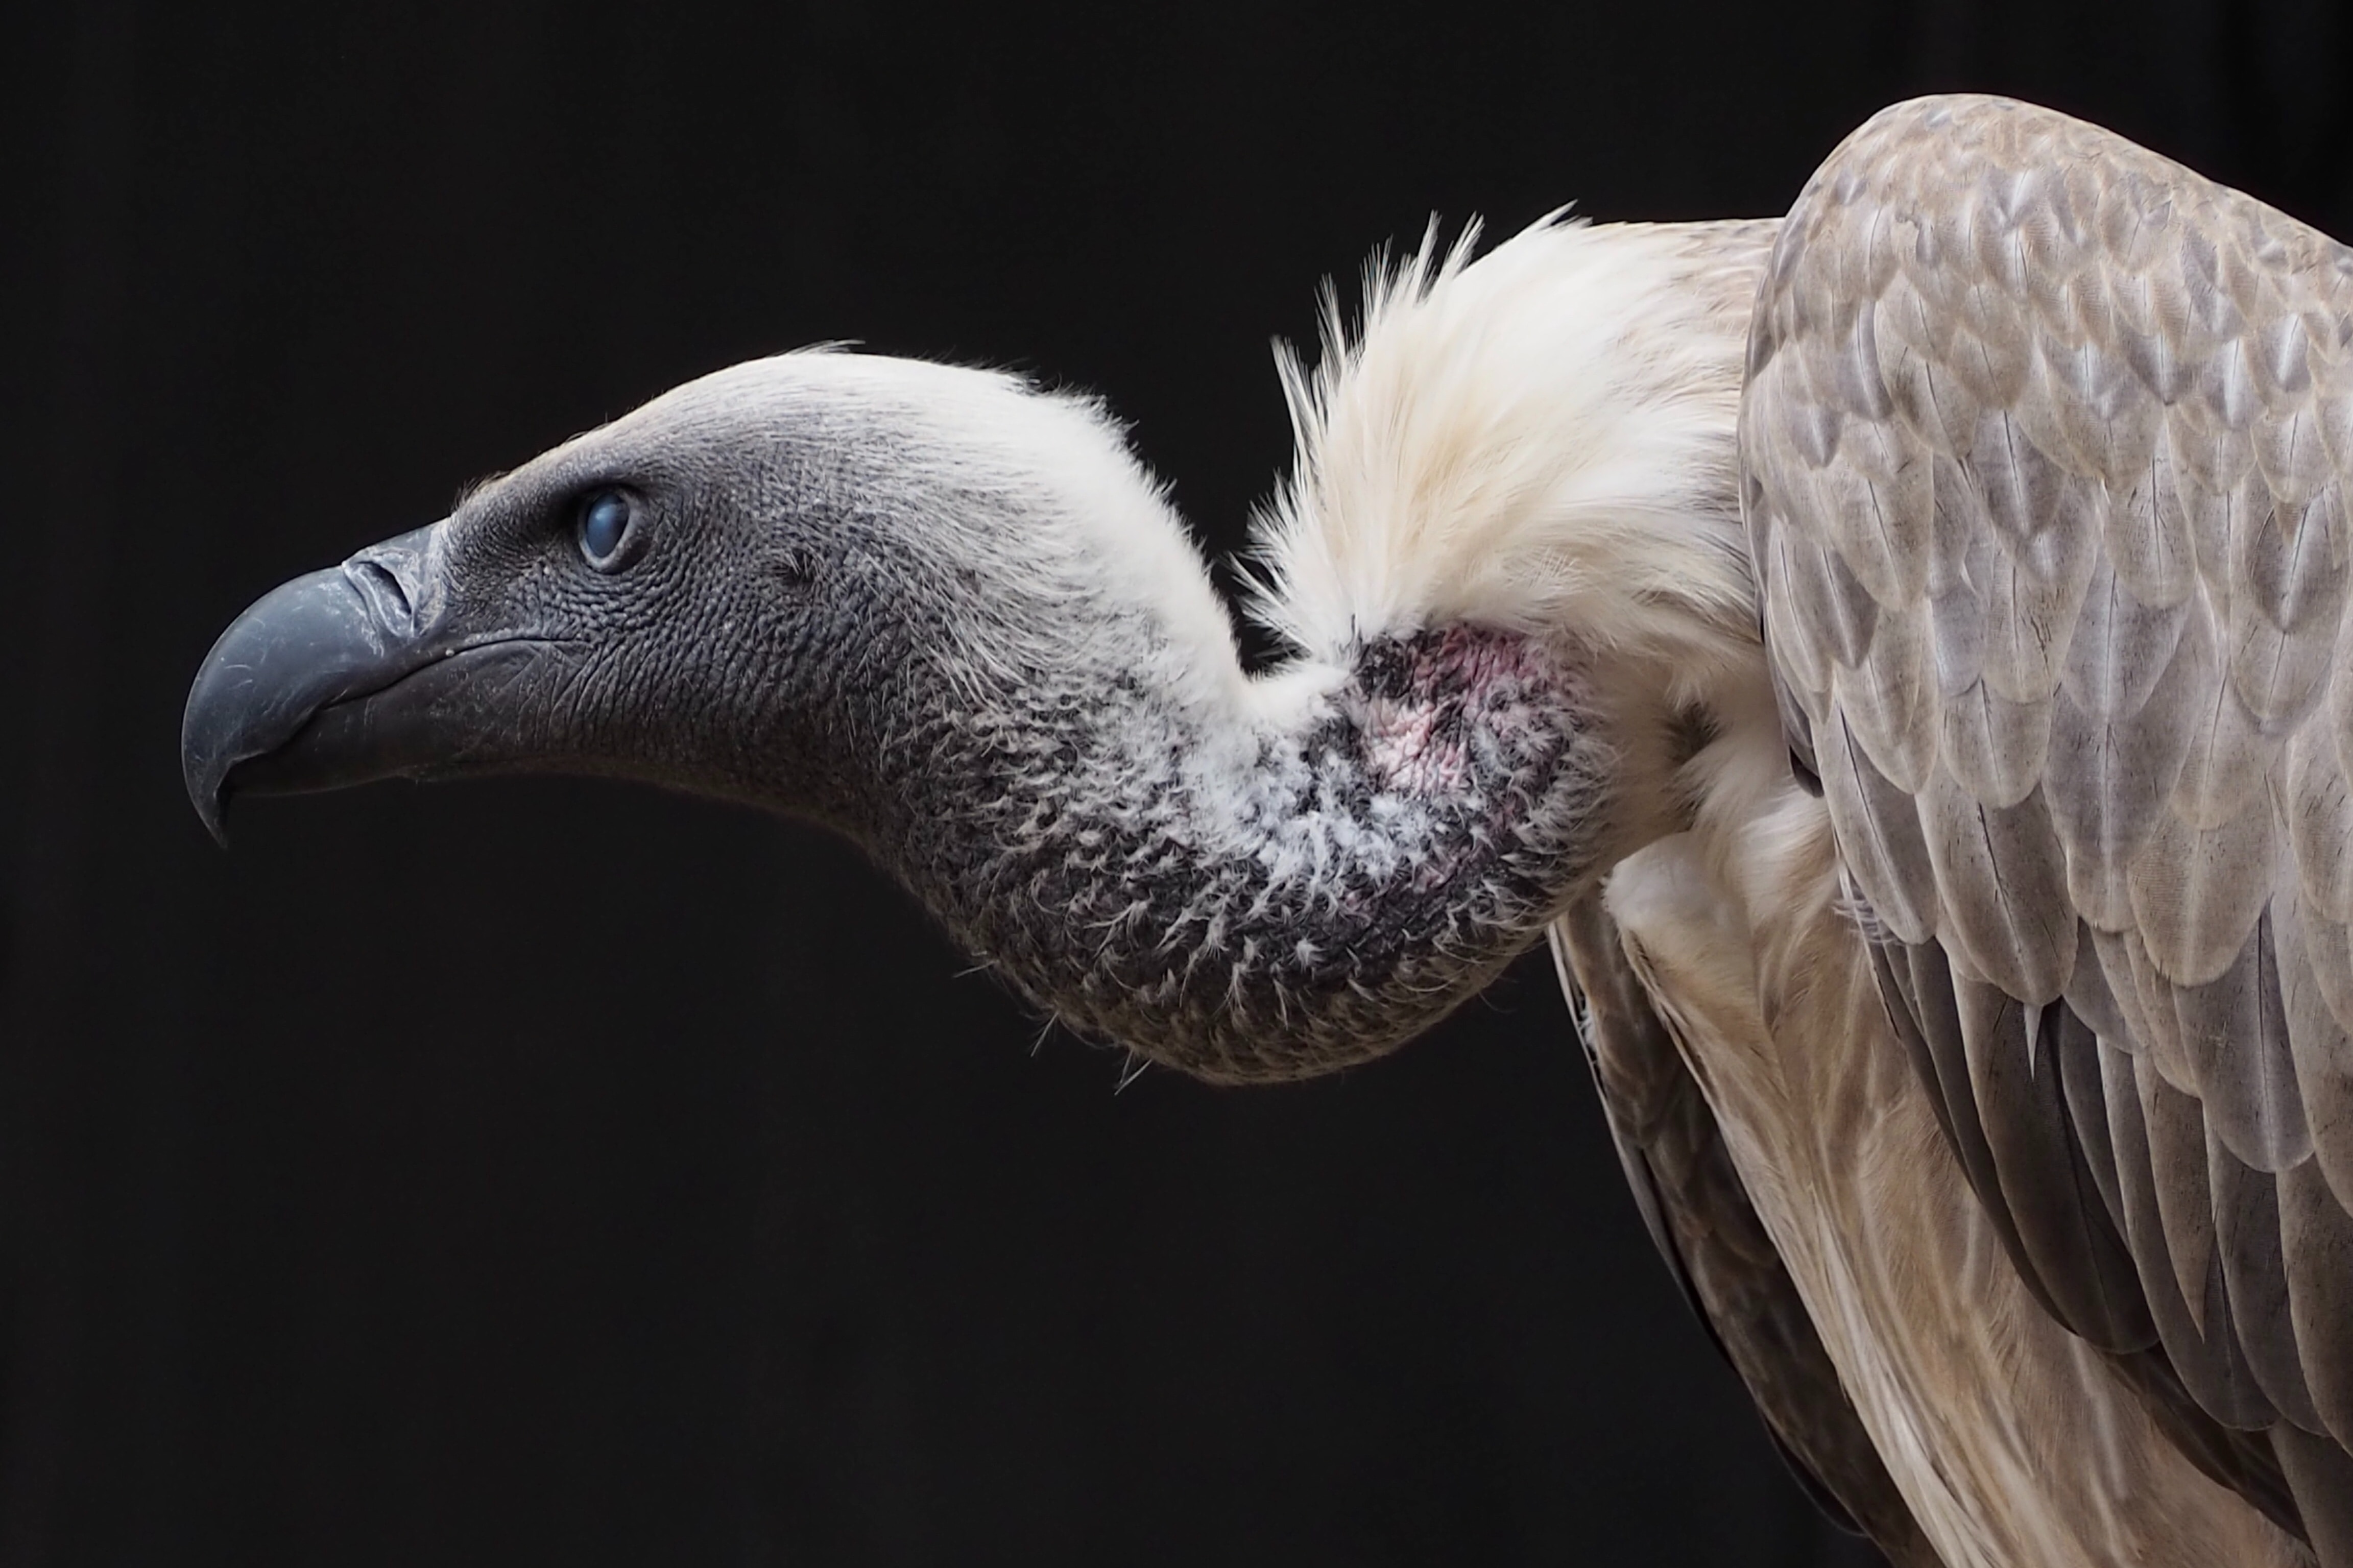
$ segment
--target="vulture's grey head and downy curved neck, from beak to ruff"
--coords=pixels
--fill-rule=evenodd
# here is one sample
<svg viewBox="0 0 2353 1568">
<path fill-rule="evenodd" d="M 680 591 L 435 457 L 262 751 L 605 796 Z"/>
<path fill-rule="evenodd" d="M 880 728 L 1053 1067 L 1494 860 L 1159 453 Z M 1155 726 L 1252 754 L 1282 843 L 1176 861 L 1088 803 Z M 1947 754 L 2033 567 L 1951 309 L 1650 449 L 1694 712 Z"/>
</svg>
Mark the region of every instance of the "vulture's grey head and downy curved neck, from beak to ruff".
<svg viewBox="0 0 2353 1568">
<path fill-rule="evenodd" d="M 1188 662 L 1231 640 L 1054 553 L 1054 454 L 1000 461 L 986 419 L 828 388 L 828 360 L 856 370 L 689 386 L 256 603 L 188 699 L 198 812 L 515 770 L 748 800 L 861 843 L 1080 1034 L 1212 1081 L 1398 1045 L 1588 876 L 1609 753 L 1555 655 L 1433 629 L 1280 720 L 1205 704 Z M 607 490 L 633 516 L 591 563 Z M 1405 770 L 1400 725 L 1433 737 Z"/>
</svg>

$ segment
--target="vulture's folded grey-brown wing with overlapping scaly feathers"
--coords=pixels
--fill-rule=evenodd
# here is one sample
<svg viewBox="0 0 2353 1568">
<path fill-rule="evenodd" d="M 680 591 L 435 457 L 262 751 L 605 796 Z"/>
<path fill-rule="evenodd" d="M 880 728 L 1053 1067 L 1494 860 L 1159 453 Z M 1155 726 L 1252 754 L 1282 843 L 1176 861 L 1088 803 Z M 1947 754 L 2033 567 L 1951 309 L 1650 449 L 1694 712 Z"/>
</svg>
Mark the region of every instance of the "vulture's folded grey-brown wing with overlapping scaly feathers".
<svg viewBox="0 0 2353 1568">
<path fill-rule="evenodd" d="M 1899 104 L 1781 228 L 1741 464 L 1791 751 L 2012 1262 L 2353 1563 L 2353 252 Z"/>
</svg>

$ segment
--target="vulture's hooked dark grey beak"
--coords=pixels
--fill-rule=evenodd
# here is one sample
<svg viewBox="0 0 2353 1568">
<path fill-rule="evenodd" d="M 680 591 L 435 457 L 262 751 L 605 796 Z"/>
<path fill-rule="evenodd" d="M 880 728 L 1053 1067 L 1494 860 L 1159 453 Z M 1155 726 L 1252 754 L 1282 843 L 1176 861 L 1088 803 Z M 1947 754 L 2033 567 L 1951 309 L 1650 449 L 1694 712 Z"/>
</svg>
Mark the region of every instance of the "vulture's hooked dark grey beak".
<svg viewBox="0 0 2353 1568">
<path fill-rule="evenodd" d="M 546 643 L 459 636 L 442 591 L 445 527 L 369 546 L 282 584 L 212 645 L 179 749 L 212 836 L 240 793 L 301 793 L 515 760 L 501 697 Z M 485 666 L 506 666 L 485 680 Z"/>
</svg>

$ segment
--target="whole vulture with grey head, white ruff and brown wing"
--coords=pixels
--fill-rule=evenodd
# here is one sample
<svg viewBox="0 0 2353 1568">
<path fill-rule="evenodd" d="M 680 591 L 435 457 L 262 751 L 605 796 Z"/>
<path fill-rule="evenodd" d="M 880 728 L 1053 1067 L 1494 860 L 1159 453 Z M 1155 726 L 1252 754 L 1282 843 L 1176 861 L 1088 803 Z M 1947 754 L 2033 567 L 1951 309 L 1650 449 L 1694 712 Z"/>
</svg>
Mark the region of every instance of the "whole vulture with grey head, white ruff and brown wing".
<svg viewBox="0 0 2353 1568">
<path fill-rule="evenodd" d="M 1089 398 L 802 351 L 294 579 L 184 768 L 833 826 L 1212 1083 L 1548 942 L 1633 1198 L 1904 1568 L 2353 1568 L 2353 250 L 1882 111 L 1765 221 L 1374 268 L 1247 673 Z"/>
</svg>

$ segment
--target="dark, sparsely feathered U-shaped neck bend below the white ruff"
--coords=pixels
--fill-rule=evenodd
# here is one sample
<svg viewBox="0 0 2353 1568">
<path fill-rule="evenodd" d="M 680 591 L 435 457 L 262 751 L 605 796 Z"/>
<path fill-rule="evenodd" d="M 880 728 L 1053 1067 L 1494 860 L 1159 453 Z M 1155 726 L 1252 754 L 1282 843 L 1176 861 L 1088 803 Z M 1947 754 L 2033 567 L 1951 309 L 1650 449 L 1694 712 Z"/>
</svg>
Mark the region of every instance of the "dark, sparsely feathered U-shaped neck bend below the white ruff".
<svg viewBox="0 0 2353 1568">
<path fill-rule="evenodd" d="M 1200 704 L 1155 662 L 939 711 L 885 859 L 1028 1001 L 1209 1081 L 1381 1055 L 1593 866 L 1581 673 L 1442 629 Z"/>
</svg>

